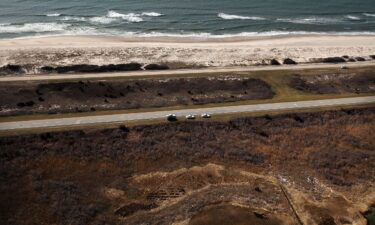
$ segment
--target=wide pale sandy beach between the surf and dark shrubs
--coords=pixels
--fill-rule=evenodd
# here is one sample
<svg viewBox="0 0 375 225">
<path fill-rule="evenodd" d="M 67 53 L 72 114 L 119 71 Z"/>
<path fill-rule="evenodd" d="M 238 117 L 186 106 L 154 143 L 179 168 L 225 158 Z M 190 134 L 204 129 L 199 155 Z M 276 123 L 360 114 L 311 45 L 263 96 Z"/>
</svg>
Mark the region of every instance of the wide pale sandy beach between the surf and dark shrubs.
<svg viewBox="0 0 375 225">
<path fill-rule="evenodd" d="M 370 59 L 375 36 L 284 36 L 223 39 L 60 36 L 0 40 L 0 66 L 166 63 L 171 68 L 230 67 L 292 58 L 348 55 Z"/>
</svg>

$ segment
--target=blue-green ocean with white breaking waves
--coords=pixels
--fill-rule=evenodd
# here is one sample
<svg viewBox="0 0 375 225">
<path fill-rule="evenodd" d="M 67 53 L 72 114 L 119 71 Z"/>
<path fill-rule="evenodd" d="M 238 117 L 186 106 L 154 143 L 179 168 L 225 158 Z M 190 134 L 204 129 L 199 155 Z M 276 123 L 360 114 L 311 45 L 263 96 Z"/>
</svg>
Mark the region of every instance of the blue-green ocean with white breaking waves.
<svg viewBox="0 0 375 225">
<path fill-rule="evenodd" d="M 375 0 L 0 0 L 0 38 L 375 35 Z"/>
</svg>

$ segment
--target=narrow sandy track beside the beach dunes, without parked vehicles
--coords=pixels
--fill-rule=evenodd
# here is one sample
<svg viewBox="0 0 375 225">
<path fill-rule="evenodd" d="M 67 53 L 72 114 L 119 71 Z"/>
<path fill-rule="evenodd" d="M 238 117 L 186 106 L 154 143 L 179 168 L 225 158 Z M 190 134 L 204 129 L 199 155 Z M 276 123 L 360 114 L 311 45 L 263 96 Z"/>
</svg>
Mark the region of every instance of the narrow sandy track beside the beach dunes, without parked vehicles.
<svg viewBox="0 0 375 225">
<path fill-rule="evenodd" d="M 341 64 L 298 64 L 280 66 L 248 66 L 248 67 L 224 67 L 224 68 L 202 68 L 202 69 L 180 69 L 180 70 L 159 70 L 159 71 L 129 71 L 119 73 L 84 73 L 84 74 L 49 74 L 49 75 L 26 75 L 26 76 L 4 76 L 0 82 L 14 81 L 53 81 L 53 80 L 79 80 L 79 79 L 106 79 L 122 77 L 143 77 L 161 75 L 182 75 L 201 73 L 229 73 L 229 72 L 251 72 L 251 71 L 274 71 L 274 70 L 300 70 L 300 69 L 329 69 L 346 66 L 350 68 L 374 66 L 375 61 L 355 62 Z"/>
</svg>

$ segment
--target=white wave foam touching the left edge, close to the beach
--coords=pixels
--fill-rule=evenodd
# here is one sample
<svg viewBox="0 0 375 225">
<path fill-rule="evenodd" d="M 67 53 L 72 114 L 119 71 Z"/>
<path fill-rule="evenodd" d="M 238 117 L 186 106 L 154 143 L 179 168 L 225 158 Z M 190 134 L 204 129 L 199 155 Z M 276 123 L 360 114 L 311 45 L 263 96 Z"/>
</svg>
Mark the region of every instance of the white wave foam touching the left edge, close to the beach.
<svg viewBox="0 0 375 225">
<path fill-rule="evenodd" d="M 70 25 L 59 23 L 26 23 L 23 25 L 0 25 L 0 33 L 38 33 L 64 31 Z"/>
</svg>

